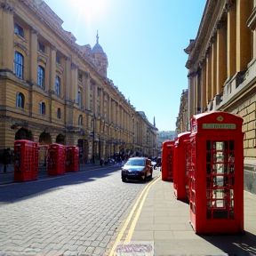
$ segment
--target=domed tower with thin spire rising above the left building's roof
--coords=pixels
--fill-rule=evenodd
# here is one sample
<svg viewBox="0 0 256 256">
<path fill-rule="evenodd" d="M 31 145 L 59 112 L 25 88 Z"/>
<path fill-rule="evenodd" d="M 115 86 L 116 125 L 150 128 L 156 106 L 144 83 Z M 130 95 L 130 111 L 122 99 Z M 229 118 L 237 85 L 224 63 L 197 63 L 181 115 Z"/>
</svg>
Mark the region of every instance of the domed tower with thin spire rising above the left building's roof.
<svg viewBox="0 0 256 256">
<path fill-rule="evenodd" d="M 99 44 L 98 31 L 96 36 L 96 44 L 92 48 L 91 56 L 92 61 L 100 72 L 100 75 L 107 77 L 108 57 Z"/>
</svg>

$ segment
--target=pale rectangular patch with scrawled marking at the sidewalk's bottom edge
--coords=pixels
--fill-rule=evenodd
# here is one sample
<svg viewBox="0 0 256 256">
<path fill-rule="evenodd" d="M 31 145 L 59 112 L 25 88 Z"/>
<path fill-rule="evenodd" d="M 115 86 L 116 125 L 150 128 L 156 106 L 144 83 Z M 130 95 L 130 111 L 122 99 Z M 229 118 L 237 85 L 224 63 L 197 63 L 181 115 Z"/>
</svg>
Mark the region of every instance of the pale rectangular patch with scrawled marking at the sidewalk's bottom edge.
<svg viewBox="0 0 256 256">
<path fill-rule="evenodd" d="M 113 252 L 113 256 L 154 256 L 154 241 L 131 241 L 119 243 Z"/>
</svg>

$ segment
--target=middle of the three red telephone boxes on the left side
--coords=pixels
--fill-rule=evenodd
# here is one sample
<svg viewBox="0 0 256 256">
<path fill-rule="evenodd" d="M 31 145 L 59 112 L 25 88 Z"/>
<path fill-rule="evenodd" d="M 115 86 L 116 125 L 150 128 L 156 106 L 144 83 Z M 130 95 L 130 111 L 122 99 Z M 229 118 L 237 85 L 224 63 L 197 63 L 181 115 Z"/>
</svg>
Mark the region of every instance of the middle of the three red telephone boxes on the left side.
<svg viewBox="0 0 256 256">
<path fill-rule="evenodd" d="M 66 147 L 57 143 L 49 145 L 48 153 L 48 175 L 59 175 L 65 173 Z"/>
</svg>

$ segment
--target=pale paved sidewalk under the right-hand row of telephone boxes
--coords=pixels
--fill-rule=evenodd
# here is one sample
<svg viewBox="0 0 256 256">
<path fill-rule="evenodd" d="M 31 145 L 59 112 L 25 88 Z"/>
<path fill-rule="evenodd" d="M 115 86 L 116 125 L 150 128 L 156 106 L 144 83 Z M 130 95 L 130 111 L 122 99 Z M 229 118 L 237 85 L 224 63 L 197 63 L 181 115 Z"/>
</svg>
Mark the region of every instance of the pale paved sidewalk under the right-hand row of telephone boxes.
<svg viewBox="0 0 256 256">
<path fill-rule="evenodd" d="M 155 256 L 256 255 L 256 195 L 244 191 L 244 234 L 195 234 L 189 207 L 173 196 L 173 183 L 157 180 L 150 188 L 130 244 L 151 241 Z M 121 255 L 121 254 L 120 254 Z"/>
</svg>

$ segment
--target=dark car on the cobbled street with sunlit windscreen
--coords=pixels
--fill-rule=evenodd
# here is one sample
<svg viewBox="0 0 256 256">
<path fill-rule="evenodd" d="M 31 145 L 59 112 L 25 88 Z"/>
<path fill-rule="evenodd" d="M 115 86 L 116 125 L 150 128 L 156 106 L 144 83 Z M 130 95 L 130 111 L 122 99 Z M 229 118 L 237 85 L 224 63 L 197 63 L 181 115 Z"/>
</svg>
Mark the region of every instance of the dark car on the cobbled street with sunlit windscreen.
<svg viewBox="0 0 256 256">
<path fill-rule="evenodd" d="M 152 179 L 153 167 L 147 157 L 131 157 L 122 167 L 121 178 L 126 180 Z"/>
</svg>

